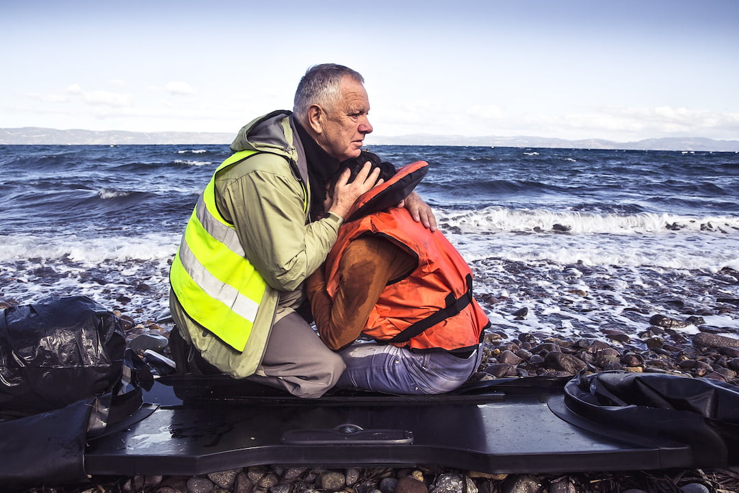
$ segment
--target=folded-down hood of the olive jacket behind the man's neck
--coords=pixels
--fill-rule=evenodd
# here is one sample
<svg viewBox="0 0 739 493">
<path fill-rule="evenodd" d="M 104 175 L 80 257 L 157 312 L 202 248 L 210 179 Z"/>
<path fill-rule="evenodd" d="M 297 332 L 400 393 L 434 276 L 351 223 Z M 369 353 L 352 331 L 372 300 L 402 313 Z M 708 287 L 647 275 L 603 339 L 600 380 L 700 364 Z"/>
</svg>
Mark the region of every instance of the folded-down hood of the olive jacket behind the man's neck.
<svg viewBox="0 0 739 493">
<path fill-rule="evenodd" d="M 266 151 L 293 157 L 296 150 L 288 118 L 292 114 L 286 109 L 278 109 L 242 126 L 231 143 L 231 152 Z"/>
</svg>

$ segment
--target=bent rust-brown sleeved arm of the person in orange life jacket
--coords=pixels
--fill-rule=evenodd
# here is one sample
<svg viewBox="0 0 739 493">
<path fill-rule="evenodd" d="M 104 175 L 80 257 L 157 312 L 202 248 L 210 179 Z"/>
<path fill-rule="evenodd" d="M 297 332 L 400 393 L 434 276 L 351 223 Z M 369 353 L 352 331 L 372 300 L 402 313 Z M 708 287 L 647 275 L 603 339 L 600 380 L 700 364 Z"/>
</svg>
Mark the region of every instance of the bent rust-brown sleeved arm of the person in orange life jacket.
<svg viewBox="0 0 739 493">
<path fill-rule="evenodd" d="M 415 268 L 415 259 L 379 237 L 355 239 L 339 264 L 341 283 L 333 300 L 326 292 L 324 269 L 311 275 L 306 292 L 321 339 L 332 350 L 351 344 L 361 334 L 389 279 Z"/>
</svg>

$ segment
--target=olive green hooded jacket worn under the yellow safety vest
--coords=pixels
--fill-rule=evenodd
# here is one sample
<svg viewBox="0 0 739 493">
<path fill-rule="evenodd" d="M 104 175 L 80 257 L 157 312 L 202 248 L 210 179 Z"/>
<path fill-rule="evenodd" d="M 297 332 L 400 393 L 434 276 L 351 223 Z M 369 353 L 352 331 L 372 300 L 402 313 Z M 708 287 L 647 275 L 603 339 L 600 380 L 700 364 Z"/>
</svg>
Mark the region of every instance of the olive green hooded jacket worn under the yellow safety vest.
<svg viewBox="0 0 739 493">
<path fill-rule="evenodd" d="M 172 316 L 185 341 L 236 378 L 260 373 L 280 292 L 302 288 L 324 262 L 341 225 L 334 214 L 309 222 L 307 162 L 290 112 L 272 112 L 239 130 L 231 152 L 244 150 L 259 154 L 220 172 L 215 188 L 219 211 L 234 225 L 245 256 L 267 282 L 245 350 L 239 353 L 194 322 L 170 293 Z"/>
</svg>

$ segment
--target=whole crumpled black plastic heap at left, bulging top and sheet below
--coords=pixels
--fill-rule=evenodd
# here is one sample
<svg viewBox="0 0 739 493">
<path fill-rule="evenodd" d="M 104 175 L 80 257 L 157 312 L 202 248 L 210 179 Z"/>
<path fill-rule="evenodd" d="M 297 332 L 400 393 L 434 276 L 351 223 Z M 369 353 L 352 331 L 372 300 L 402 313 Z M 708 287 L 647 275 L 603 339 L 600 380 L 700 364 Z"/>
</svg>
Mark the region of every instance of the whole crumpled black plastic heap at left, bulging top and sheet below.
<svg viewBox="0 0 739 493">
<path fill-rule="evenodd" d="M 120 320 L 86 297 L 0 311 L 0 484 L 20 491 L 84 482 L 88 433 L 121 384 Z"/>
</svg>

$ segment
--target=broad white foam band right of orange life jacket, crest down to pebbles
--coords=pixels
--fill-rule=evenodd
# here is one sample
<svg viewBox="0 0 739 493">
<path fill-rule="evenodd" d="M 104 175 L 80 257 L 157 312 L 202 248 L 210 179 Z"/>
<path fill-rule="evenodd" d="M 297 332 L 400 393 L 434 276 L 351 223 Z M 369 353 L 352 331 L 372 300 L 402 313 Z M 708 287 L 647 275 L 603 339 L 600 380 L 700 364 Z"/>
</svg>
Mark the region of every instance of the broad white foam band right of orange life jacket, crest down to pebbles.
<svg viewBox="0 0 739 493">
<path fill-rule="evenodd" d="M 468 261 L 499 256 L 562 265 L 739 267 L 739 217 L 589 214 L 488 207 L 436 211 L 442 231 Z"/>
</svg>

